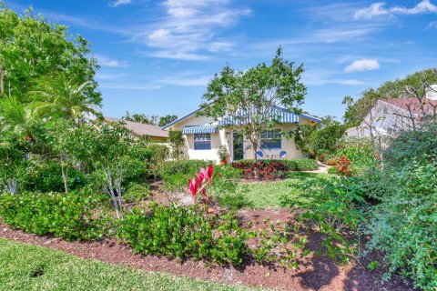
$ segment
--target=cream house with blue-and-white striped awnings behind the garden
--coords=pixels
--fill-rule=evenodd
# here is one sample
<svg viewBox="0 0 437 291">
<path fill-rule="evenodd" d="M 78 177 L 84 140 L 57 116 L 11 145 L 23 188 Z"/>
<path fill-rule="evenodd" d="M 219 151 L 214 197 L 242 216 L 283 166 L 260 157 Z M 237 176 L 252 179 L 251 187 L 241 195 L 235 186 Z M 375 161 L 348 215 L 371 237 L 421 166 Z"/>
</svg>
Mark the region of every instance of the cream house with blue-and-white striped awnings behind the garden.
<svg viewBox="0 0 437 291">
<path fill-rule="evenodd" d="M 164 130 L 181 131 L 185 145 L 183 153 L 189 159 L 214 160 L 219 163 L 218 150 L 226 146 L 228 161 L 253 158 L 253 149 L 240 132 L 231 128 L 232 116 L 223 116 L 218 120 L 212 117 L 198 115 L 200 109 L 188 113 L 178 120 L 162 127 Z M 273 130 L 266 130 L 260 136 L 260 148 L 256 153 L 259 158 L 294 159 L 304 157 L 303 153 L 294 144 L 293 138 L 287 138 L 282 133 L 294 131 L 298 124 L 316 125 L 320 119 L 310 115 L 298 115 L 289 110 L 274 106 L 269 111 L 279 117 L 280 124 Z"/>
</svg>

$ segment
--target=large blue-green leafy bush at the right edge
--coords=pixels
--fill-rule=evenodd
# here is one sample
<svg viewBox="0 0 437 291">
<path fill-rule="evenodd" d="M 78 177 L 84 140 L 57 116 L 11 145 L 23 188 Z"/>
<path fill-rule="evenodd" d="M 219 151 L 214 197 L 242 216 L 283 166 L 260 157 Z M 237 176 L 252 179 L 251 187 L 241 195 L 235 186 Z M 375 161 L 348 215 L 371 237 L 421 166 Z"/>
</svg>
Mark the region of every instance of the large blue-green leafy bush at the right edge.
<svg viewBox="0 0 437 291">
<path fill-rule="evenodd" d="M 437 288 L 437 135 L 435 126 L 403 132 L 383 151 L 384 167 L 366 178 L 370 250 L 424 290 Z"/>
</svg>

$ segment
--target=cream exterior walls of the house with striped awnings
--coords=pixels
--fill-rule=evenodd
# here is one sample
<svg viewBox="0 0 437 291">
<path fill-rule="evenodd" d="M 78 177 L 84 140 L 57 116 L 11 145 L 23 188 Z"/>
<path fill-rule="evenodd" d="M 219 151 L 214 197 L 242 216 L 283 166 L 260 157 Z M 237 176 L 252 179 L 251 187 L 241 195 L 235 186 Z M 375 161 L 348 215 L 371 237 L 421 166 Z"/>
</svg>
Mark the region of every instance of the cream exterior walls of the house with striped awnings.
<svg viewBox="0 0 437 291">
<path fill-rule="evenodd" d="M 206 116 L 190 116 L 185 120 L 182 120 L 176 125 L 173 125 L 169 127 L 169 130 L 179 130 L 181 131 L 184 129 L 185 126 L 189 125 L 205 125 L 208 123 L 213 122 L 213 118 L 206 117 Z M 316 123 L 313 121 L 310 121 L 307 118 L 300 117 L 299 120 L 300 124 L 304 125 L 315 125 Z M 275 129 L 281 129 L 282 132 L 290 132 L 292 130 L 296 129 L 296 124 L 283 124 L 278 125 L 274 127 Z M 209 150 L 195 150 L 194 149 L 194 135 L 184 135 L 185 139 L 185 146 L 182 149 L 185 156 L 188 159 L 203 159 L 203 160 L 213 160 L 216 163 L 219 163 L 219 147 L 222 145 L 227 146 L 228 152 L 229 152 L 229 158 L 228 162 L 231 161 L 232 156 L 232 131 L 229 129 L 220 129 L 219 133 L 211 134 L 211 149 Z M 249 142 L 244 139 L 243 142 L 244 147 L 244 158 L 253 158 L 253 150 L 250 148 Z M 294 138 L 287 138 L 285 136 L 282 136 L 281 140 L 281 148 L 279 149 L 263 149 L 263 158 L 279 158 L 279 153 L 285 151 L 287 152 L 286 159 L 295 159 L 295 158 L 302 158 L 304 155 L 302 152 L 296 148 L 296 145 L 294 143 Z"/>
</svg>

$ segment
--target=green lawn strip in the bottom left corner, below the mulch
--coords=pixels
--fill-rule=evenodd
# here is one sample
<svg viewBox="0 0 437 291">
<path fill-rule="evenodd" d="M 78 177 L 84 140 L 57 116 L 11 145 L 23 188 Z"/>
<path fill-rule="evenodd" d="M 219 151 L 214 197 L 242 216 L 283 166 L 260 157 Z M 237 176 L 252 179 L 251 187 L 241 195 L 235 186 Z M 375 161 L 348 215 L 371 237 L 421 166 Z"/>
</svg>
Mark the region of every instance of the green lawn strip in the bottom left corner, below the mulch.
<svg viewBox="0 0 437 291">
<path fill-rule="evenodd" d="M 146 272 L 0 239 L 0 290 L 253 290 Z"/>
</svg>

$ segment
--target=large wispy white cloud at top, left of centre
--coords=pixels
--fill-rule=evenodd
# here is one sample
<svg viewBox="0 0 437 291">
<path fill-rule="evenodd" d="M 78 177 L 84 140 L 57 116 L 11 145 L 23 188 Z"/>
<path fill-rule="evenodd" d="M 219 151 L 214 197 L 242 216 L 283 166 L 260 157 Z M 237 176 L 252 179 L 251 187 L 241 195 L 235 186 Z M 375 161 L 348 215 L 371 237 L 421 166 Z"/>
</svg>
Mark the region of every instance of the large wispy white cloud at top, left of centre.
<svg viewBox="0 0 437 291">
<path fill-rule="evenodd" d="M 231 7 L 229 2 L 166 0 L 161 5 L 166 15 L 146 27 L 146 31 L 138 31 L 132 40 L 156 48 L 149 55 L 162 58 L 203 60 L 208 58 L 205 52 L 229 51 L 234 45 L 219 39 L 221 30 L 236 25 L 240 17 L 251 13 L 246 8 Z"/>
</svg>

